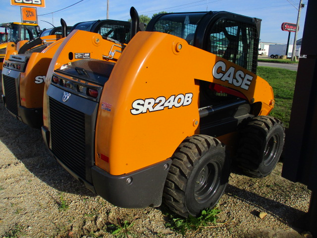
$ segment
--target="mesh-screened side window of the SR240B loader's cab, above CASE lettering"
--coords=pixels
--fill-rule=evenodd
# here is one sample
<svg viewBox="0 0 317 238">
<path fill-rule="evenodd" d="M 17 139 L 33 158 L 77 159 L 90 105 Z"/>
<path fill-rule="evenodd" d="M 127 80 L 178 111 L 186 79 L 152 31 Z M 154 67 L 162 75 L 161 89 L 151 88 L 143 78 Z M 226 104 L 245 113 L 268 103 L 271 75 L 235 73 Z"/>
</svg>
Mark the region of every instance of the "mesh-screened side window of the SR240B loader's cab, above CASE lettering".
<svg viewBox="0 0 317 238">
<path fill-rule="evenodd" d="M 254 25 L 222 19 L 211 27 L 207 50 L 255 73 L 257 53 L 254 52 L 258 52 L 256 34 Z"/>
</svg>

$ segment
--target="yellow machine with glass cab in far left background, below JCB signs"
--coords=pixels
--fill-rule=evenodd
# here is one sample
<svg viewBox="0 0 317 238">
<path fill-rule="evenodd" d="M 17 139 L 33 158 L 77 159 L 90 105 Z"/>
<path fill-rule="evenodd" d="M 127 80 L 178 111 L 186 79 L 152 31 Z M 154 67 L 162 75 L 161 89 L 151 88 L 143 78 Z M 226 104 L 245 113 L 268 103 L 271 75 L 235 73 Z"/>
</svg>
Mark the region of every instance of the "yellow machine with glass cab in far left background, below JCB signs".
<svg viewBox="0 0 317 238">
<path fill-rule="evenodd" d="M 1 23 L 0 27 L 8 33 L 7 40 L 0 44 L 0 70 L 2 70 L 5 50 L 8 44 L 16 46 L 19 41 L 32 40 L 40 35 L 40 27 L 37 24 L 10 22 Z"/>
</svg>

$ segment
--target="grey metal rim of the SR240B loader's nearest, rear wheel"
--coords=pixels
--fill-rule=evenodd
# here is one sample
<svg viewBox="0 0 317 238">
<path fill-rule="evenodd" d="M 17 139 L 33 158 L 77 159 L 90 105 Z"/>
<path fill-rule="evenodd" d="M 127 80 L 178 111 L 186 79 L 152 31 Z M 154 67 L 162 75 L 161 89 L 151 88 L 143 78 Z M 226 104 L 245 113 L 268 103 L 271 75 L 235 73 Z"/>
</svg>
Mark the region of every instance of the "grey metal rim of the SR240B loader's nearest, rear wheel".
<svg viewBox="0 0 317 238">
<path fill-rule="evenodd" d="M 217 162 L 207 164 L 195 180 L 194 196 L 198 203 L 208 201 L 220 185 L 221 165 Z"/>
</svg>

